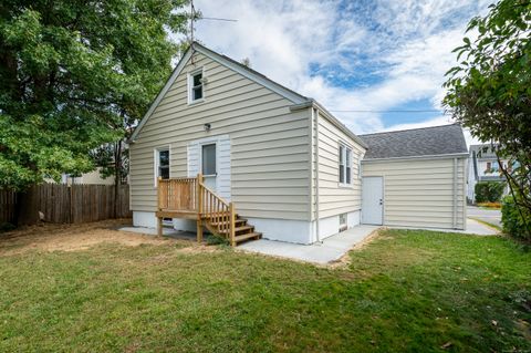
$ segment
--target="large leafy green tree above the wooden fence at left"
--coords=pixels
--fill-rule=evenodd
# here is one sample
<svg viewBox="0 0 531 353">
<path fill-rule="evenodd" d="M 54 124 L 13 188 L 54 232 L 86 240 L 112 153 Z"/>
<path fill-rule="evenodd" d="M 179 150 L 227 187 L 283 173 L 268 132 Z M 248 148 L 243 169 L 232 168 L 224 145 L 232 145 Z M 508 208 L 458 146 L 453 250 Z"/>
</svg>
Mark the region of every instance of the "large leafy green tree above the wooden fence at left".
<svg viewBox="0 0 531 353">
<path fill-rule="evenodd" d="M 122 144 L 169 75 L 187 2 L 2 1 L 0 188 L 90 172 Z"/>
</svg>

